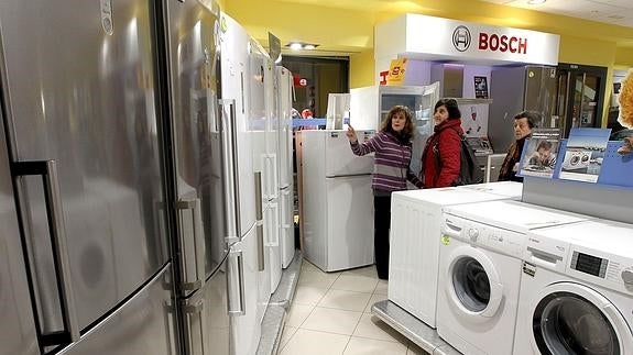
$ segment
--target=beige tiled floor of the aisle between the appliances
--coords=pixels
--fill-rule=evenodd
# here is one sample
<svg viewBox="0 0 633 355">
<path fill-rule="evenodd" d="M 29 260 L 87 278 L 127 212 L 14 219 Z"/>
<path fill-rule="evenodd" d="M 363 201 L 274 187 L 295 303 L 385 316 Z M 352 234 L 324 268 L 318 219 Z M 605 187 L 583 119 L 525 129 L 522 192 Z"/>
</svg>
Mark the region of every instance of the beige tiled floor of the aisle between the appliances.
<svg viewBox="0 0 633 355">
<path fill-rule="evenodd" d="M 304 259 L 281 355 L 426 355 L 371 314 L 386 299 L 375 267 L 324 273 Z"/>
</svg>

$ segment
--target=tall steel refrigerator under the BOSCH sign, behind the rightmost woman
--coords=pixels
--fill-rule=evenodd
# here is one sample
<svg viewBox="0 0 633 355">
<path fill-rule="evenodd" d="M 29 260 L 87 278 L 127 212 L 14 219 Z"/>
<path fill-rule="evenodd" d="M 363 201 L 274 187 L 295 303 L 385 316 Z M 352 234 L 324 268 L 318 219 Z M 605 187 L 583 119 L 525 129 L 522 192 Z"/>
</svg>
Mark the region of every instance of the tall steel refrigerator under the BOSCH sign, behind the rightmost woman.
<svg viewBox="0 0 633 355">
<path fill-rule="evenodd" d="M 488 136 L 494 153 L 505 153 L 514 142 L 514 115 L 524 110 L 541 113 L 539 127 L 558 126 L 553 121 L 556 68 L 547 66 L 495 67 L 490 75 Z M 463 114 L 463 112 L 462 112 Z"/>
</svg>

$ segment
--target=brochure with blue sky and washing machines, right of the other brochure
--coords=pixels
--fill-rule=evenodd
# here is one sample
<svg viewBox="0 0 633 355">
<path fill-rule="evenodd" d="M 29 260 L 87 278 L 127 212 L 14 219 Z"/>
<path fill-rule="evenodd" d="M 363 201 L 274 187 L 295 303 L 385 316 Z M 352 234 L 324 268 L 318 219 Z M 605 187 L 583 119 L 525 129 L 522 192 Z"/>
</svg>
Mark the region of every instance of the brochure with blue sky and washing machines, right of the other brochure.
<svg viewBox="0 0 633 355">
<path fill-rule="evenodd" d="M 611 129 L 571 129 L 560 179 L 597 182 Z"/>
</svg>

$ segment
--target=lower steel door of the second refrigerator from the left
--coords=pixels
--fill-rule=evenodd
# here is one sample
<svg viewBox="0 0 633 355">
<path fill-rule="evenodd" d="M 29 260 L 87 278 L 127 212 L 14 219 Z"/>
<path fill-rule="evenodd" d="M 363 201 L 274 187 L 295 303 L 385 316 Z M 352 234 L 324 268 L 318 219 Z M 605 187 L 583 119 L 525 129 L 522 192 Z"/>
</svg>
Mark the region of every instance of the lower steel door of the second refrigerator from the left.
<svg viewBox="0 0 633 355">
<path fill-rule="evenodd" d="M 229 355 L 227 258 L 192 297 L 182 301 L 187 355 Z"/>
</svg>

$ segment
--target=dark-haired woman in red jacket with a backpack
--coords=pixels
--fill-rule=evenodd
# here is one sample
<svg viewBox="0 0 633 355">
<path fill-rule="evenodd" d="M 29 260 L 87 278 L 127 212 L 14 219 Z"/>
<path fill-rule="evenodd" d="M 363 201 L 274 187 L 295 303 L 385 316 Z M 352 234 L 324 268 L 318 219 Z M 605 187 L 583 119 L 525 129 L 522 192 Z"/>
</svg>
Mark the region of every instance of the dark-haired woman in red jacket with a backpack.
<svg viewBox="0 0 633 355">
<path fill-rule="evenodd" d="M 422 153 L 421 180 L 424 188 L 452 186 L 459 177 L 461 163 L 461 113 L 455 99 L 441 99 L 435 104 L 434 134 Z"/>
</svg>

